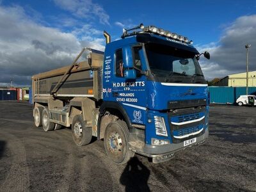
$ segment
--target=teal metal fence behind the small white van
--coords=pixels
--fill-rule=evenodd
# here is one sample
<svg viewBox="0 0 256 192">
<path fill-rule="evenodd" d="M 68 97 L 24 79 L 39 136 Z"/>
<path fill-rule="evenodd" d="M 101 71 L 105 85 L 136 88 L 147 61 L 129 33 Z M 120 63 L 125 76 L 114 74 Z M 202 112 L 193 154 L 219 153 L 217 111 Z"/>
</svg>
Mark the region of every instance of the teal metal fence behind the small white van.
<svg viewBox="0 0 256 192">
<path fill-rule="evenodd" d="M 211 103 L 235 103 L 240 95 L 246 95 L 246 87 L 209 86 Z M 248 88 L 248 95 L 256 95 L 256 87 Z"/>
</svg>

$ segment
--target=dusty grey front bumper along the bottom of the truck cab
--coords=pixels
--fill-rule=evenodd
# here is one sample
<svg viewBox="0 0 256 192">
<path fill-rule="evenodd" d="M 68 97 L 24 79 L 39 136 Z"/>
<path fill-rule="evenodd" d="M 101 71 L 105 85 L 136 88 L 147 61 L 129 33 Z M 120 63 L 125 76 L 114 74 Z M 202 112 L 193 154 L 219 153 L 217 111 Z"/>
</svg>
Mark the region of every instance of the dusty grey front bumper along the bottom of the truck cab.
<svg viewBox="0 0 256 192">
<path fill-rule="evenodd" d="M 174 154 L 178 152 L 179 150 L 184 150 L 188 147 L 193 147 L 195 145 L 200 145 L 201 143 L 204 143 L 204 141 L 209 136 L 209 129 L 205 129 L 204 134 L 201 136 L 196 137 L 196 143 L 193 143 L 191 145 L 188 145 L 184 147 L 184 143 L 170 143 L 168 145 L 145 145 L 145 147 L 136 147 L 132 146 L 130 149 L 138 154 L 141 154 L 143 156 L 152 157 L 153 163 L 161 163 L 164 161 L 168 161 L 169 159 L 172 159 Z"/>
</svg>

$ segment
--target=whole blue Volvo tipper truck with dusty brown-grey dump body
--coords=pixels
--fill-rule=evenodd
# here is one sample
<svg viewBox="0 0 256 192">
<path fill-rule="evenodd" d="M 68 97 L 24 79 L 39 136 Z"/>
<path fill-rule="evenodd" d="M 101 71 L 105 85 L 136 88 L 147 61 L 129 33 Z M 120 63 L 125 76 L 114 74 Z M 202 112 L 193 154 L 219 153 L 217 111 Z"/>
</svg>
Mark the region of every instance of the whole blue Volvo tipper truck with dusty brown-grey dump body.
<svg viewBox="0 0 256 192">
<path fill-rule="evenodd" d="M 209 90 L 202 54 L 185 36 L 143 24 L 124 29 L 104 52 L 84 48 L 72 65 L 32 77 L 35 126 L 71 127 L 78 146 L 104 140 L 108 157 L 124 164 L 134 153 L 153 163 L 204 143 Z M 84 52 L 86 61 L 78 62 Z M 90 145 L 88 145 L 89 147 Z"/>
</svg>

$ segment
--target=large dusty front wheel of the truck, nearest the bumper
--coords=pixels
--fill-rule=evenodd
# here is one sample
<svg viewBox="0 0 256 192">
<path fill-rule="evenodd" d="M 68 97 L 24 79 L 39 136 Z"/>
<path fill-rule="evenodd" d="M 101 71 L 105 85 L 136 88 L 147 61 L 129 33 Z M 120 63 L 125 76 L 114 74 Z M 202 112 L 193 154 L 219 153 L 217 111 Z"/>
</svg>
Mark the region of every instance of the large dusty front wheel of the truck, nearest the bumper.
<svg viewBox="0 0 256 192">
<path fill-rule="evenodd" d="M 125 164 L 134 152 L 129 150 L 129 131 L 122 120 L 111 122 L 106 127 L 104 147 L 108 157 L 116 164 Z"/>
</svg>

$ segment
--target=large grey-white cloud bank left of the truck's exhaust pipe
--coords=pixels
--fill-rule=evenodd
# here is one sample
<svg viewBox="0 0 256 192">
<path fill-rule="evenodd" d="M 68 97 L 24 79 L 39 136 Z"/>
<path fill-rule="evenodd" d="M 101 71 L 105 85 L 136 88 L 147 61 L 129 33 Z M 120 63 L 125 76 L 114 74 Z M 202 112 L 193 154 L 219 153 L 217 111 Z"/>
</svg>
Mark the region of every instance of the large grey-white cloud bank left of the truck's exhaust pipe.
<svg viewBox="0 0 256 192">
<path fill-rule="evenodd" d="M 69 65 L 82 47 L 103 49 L 99 38 L 81 41 L 83 34 L 63 33 L 36 24 L 19 6 L 0 6 L 0 84 L 14 79 L 17 86 L 31 84 L 31 76 Z"/>
</svg>

